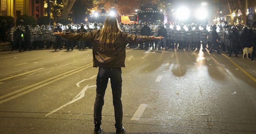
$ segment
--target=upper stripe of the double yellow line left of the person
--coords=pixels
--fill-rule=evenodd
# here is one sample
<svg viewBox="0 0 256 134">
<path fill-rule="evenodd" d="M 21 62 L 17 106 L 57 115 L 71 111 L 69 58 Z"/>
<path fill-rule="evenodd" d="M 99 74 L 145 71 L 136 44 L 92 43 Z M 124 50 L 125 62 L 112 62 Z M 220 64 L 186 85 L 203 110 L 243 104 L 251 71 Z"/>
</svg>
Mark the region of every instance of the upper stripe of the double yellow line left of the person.
<svg viewBox="0 0 256 134">
<path fill-rule="evenodd" d="M 76 69 L 70 70 L 70 71 L 68 71 L 68 72 L 64 72 L 64 73 L 59 74 L 59 75 L 57 75 L 57 76 L 54 76 L 54 77 L 52 77 L 52 78 L 49 78 L 49 79 L 43 80 L 43 81 L 38 82 L 38 83 L 35 83 L 35 84 L 33 84 L 33 85 L 30 85 L 30 86 L 24 87 L 24 88 L 22 88 L 22 89 L 19 89 L 19 90 L 13 91 L 13 92 L 8 93 L 8 94 L 5 94 L 5 95 L 3 95 L 3 96 L 0 96 L 0 99 L 5 98 L 5 97 L 8 97 L 8 96 L 11 96 L 11 95 L 16 94 L 16 93 L 19 93 L 19 92 L 21 92 L 21 91 L 23 91 L 23 90 L 27 90 L 27 89 L 29 89 L 30 87 L 40 85 L 40 84 L 45 83 L 45 82 L 47 82 L 47 81 L 50 81 L 50 80 L 52 80 L 52 79 L 55 79 L 55 78 L 58 78 L 58 77 L 62 77 L 62 76 L 66 75 L 66 74 L 68 74 L 68 73 L 70 73 L 70 72 L 76 71 L 76 70 L 81 69 L 81 68 L 83 68 L 83 67 L 87 67 L 88 65 L 91 65 L 91 66 L 92 66 L 92 63 L 89 63 L 89 64 L 87 64 L 87 65 L 83 65 L 83 66 L 81 66 L 81 67 L 79 67 L 79 68 L 76 68 Z"/>
</svg>

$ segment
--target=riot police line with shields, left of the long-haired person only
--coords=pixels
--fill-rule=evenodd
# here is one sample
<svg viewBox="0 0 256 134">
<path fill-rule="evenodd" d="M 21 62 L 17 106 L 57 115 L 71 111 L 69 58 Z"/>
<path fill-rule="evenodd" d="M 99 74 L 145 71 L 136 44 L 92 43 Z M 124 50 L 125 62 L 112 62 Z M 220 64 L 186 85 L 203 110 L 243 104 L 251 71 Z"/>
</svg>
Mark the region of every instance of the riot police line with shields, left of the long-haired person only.
<svg viewBox="0 0 256 134">
<path fill-rule="evenodd" d="M 36 25 L 35 27 L 26 25 L 26 26 L 15 26 L 12 27 L 9 31 L 9 40 L 11 42 L 12 48 L 22 51 L 30 51 L 34 49 L 50 49 L 53 47 L 55 51 L 57 49 L 62 50 L 63 46 L 65 49 L 73 50 L 74 47 L 77 49 L 91 48 L 90 42 L 86 41 L 68 41 L 63 39 L 58 35 L 53 35 L 54 32 L 91 32 L 92 30 L 97 30 L 102 28 L 101 23 L 87 23 L 84 25 L 68 24 L 62 25 L 57 23 L 56 26 L 51 25 Z"/>
</svg>

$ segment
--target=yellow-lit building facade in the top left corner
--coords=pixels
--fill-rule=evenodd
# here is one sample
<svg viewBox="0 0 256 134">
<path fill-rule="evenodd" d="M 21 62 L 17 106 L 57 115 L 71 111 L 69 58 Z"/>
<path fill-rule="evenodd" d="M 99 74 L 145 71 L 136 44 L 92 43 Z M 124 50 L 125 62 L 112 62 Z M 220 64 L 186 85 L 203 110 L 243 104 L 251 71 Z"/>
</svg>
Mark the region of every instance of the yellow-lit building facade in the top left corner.
<svg viewBox="0 0 256 134">
<path fill-rule="evenodd" d="M 1 0 L 0 15 L 12 16 L 30 15 L 35 18 L 44 16 L 44 0 Z"/>
</svg>

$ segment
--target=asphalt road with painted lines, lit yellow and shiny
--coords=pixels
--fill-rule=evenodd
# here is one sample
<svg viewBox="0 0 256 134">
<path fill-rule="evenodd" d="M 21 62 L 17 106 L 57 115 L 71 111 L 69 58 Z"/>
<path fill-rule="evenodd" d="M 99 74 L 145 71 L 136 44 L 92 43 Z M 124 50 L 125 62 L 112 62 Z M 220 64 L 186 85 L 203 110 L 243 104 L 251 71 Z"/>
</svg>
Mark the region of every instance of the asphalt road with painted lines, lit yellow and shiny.
<svg viewBox="0 0 256 134">
<path fill-rule="evenodd" d="M 126 50 L 126 134 L 256 133 L 256 62 L 190 50 Z M 0 52 L 1 134 L 91 134 L 92 50 Z M 102 134 L 115 134 L 110 82 Z"/>
</svg>

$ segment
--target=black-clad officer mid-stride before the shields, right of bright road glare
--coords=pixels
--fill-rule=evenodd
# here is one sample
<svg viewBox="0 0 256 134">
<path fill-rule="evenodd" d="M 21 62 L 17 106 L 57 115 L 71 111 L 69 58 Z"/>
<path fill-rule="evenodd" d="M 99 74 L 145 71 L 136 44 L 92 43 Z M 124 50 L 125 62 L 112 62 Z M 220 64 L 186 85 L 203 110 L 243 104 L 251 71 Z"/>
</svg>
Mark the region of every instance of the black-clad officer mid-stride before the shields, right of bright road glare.
<svg viewBox="0 0 256 134">
<path fill-rule="evenodd" d="M 220 54 L 219 52 L 219 36 L 218 33 L 216 32 L 217 26 L 213 25 L 212 26 L 212 47 L 209 50 L 209 53 L 212 53 L 212 49 L 214 48 L 215 50 L 217 50 L 217 54 Z"/>
</svg>

